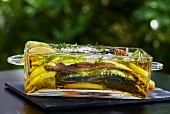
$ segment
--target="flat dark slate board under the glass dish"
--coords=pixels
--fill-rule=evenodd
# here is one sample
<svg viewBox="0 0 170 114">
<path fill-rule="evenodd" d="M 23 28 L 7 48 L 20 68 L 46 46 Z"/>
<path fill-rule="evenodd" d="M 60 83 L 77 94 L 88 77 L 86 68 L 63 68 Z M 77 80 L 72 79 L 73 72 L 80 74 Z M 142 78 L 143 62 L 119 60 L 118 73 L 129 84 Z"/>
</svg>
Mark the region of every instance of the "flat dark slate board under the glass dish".
<svg viewBox="0 0 170 114">
<path fill-rule="evenodd" d="M 71 98 L 71 97 L 49 97 L 28 96 L 24 93 L 23 82 L 7 82 L 5 86 L 22 98 L 45 110 L 92 108 L 101 106 L 116 106 L 141 103 L 156 103 L 170 101 L 170 92 L 160 88 L 149 91 L 146 99 L 106 99 L 106 98 Z"/>
</svg>

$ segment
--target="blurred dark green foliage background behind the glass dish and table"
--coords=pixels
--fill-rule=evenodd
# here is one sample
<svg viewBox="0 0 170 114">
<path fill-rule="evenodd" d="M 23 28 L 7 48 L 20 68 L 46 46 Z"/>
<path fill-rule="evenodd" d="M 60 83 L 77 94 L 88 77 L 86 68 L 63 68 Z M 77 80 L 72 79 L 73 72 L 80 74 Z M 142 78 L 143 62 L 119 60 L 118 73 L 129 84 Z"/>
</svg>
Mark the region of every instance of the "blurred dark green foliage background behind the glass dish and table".
<svg viewBox="0 0 170 114">
<path fill-rule="evenodd" d="M 0 70 L 28 40 L 140 47 L 170 73 L 169 0 L 0 0 Z"/>
</svg>

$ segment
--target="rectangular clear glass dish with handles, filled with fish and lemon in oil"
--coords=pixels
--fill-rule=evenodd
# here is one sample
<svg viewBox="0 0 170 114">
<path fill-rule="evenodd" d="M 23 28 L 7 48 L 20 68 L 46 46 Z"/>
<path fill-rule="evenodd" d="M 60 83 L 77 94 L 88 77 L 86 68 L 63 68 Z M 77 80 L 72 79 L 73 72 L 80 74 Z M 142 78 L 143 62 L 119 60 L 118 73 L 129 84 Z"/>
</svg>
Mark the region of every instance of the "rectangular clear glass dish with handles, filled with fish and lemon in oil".
<svg viewBox="0 0 170 114">
<path fill-rule="evenodd" d="M 24 91 L 33 96 L 146 98 L 152 70 L 163 65 L 141 48 L 28 41 L 8 62 L 24 65 Z"/>
</svg>

